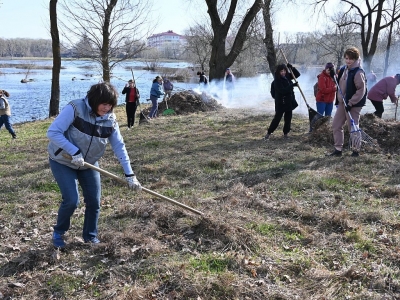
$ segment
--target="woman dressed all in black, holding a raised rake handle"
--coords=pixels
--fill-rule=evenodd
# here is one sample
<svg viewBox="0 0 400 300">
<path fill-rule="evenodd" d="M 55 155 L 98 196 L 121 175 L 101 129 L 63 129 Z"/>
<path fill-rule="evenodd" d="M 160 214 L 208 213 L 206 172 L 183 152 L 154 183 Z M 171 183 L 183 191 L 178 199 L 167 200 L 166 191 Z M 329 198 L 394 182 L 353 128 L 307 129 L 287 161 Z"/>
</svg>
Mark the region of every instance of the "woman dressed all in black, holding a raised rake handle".
<svg viewBox="0 0 400 300">
<path fill-rule="evenodd" d="M 276 67 L 273 81 L 275 116 L 268 127 L 267 134 L 264 137 L 265 140 L 268 140 L 270 135 L 278 127 L 283 115 L 283 136 L 287 138 L 290 131 L 292 110 L 295 108 L 294 103 L 296 102 L 293 87 L 297 86 L 297 82 L 292 82 L 293 76 L 288 72 L 288 68 L 293 72 L 296 78 L 300 76 L 299 71 L 289 63 L 287 66 L 282 64 Z"/>
</svg>

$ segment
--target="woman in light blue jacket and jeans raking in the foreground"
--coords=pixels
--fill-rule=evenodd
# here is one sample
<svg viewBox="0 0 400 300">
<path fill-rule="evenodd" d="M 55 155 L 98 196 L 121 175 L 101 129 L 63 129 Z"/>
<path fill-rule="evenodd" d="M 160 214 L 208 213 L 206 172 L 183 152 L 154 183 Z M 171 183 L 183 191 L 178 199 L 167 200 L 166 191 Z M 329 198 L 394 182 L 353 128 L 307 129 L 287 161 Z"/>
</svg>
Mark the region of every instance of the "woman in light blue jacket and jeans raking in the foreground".
<svg viewBox="0 0 400 300">
<path fill-rule="evenodd" d="M 83 240 L 100 243 L 97 237 L 100 173 L 87 168 L 85 162 L 98 167 L 98 160 L 108 143 L 124 170 L 129 187 L 137 191 L 142 189 L 132 170 L 113 112 L 117 99 L 118 92 L 110 83 L 95 84 L 85 98 L 67 104 L 47 130 L 50 168 L 62 195 L 53 232 L 53 245 L 57 248 L 66 246 L 64 234 L 70 228 L 71 216 L 79 204 L 78 183 L 85 201 Z"/>
</svg>

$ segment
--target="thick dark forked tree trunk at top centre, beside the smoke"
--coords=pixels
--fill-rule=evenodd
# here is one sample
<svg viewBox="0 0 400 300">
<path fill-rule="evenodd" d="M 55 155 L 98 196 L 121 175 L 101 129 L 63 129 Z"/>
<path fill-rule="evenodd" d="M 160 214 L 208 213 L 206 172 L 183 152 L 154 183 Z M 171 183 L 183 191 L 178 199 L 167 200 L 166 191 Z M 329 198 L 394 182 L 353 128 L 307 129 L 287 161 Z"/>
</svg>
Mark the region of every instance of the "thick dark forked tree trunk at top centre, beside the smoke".
<svg viewBox="0 0 400 300">
<path fill-rule="evenodd" d="M 243 44 L 247 38 L 247 30 L 261 9 L 262 0 L 254 0 L 253 5 L 247 10 L 242 18 L 238 31 L 234 37 L 234 42 L 228 54 L 226 54 L 226 39 L 230 33 L 233 17 L 237 9 L 238 0 L 231 0 L 230 5 L 226 11 L 225 20 L 221 20 L 221 14 L 224 13 L 222 9 L 219 10 L 218 2 L 216 0 L 205 0 L 208 7 L 208 14 L 211 20 L 211 27 L 213 30 L 213 39 L 211 42 L 212 51 L 210 57 L 210 79 L 223 78 L 227 67 L 230 67 L 235 61 L 236 57 L 242 50 Z M 225 5 L 225 1 L 222 5 Z M 231 33 L 233 37 L 234 34 Z"/>
</svg>

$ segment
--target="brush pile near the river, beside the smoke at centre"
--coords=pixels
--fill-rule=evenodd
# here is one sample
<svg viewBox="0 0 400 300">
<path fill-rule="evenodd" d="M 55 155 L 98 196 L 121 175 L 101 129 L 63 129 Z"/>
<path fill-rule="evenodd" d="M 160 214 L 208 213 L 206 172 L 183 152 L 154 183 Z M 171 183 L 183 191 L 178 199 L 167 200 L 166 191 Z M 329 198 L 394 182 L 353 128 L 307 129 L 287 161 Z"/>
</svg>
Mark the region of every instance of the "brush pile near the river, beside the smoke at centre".
<svg viewBox="0 0 400 300">
<path fill-rule="evenodd" d="M 158 104 L 158 114 L 162 113 L 167 109 L 174 110 L 177 115 L 185 115 L 198 111 L 213 111 L 221 109 L 222 106 L 213 98 L 211 95 L 206 93 L 196 93 L 193 90 L 180 91 L 167 99 L 167 103 L 162 101 Z M 149 108 L 150 109 L 150 108 Z M 148 114 L 149 109 L 145 110 L 145 114 Z"/>
</svg>

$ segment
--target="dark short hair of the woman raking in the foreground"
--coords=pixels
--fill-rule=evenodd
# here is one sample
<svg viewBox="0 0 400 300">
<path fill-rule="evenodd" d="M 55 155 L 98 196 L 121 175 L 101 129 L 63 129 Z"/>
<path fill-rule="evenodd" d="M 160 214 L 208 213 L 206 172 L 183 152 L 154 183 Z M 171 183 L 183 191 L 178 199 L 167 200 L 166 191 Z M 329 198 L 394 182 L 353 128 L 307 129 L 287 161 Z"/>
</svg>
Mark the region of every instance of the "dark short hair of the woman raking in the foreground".
<svg viewBox="0 0 400 300">
<path fill-rule="evenodd" d="M 101 82 L 90 87 L 87 97 L 93 111 L 96 112 L 100 104 L 110 104 L 112 110 L 117 106 L 118 92 L 111 83 Z"/>
</svg>

